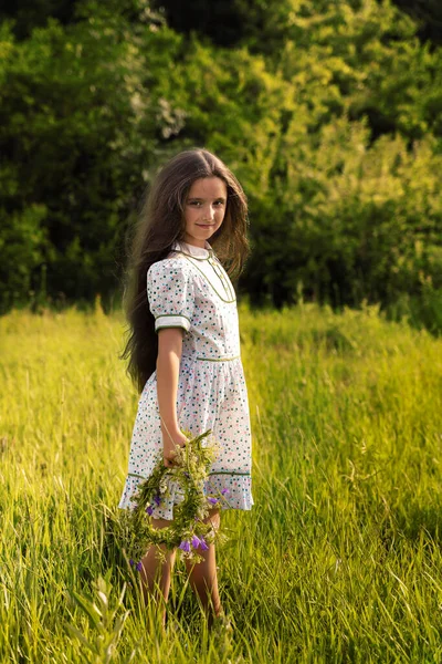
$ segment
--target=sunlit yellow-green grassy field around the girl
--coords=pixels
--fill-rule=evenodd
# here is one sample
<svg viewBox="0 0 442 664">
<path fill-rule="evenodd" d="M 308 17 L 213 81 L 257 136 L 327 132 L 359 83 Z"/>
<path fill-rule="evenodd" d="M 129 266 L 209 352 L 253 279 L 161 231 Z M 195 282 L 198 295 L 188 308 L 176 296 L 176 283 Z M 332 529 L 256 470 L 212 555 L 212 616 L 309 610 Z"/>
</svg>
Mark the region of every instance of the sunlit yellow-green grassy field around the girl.
<svg viewBox="0 0 442 664">
<path fill-rule="evenodd" d="M 442 340 L 377 308 L 240 317 L 255 506 L 222 515 L 231 647 L 181 562 L 165 639 L 127 571 L 122 317 L 0 319 L 0 662 L 442 662 Z"/>
</svg>

